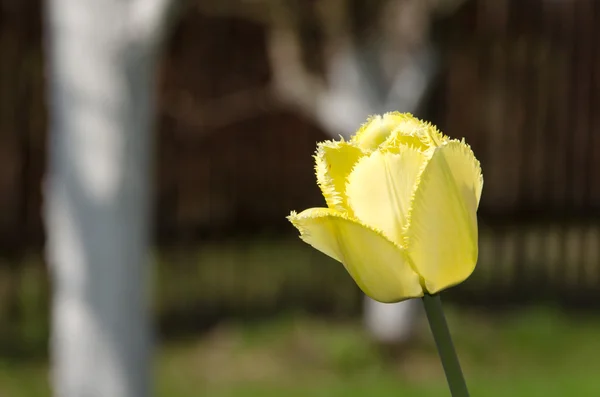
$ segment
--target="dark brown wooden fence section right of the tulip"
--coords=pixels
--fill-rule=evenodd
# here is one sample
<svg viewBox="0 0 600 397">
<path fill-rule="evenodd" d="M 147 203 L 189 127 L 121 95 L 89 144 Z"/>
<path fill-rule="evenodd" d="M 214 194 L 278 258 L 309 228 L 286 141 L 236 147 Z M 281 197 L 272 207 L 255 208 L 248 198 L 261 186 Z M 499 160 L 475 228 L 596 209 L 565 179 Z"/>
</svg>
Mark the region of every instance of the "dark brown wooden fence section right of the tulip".
<svg viewBox="0 0 600 397">
<path fill-rule="evenodd" d="M 479 287 L 598 296 L 600 3 L 478 1 L 456 18 L 442 124 L 484 169 Z"/>
</svg>

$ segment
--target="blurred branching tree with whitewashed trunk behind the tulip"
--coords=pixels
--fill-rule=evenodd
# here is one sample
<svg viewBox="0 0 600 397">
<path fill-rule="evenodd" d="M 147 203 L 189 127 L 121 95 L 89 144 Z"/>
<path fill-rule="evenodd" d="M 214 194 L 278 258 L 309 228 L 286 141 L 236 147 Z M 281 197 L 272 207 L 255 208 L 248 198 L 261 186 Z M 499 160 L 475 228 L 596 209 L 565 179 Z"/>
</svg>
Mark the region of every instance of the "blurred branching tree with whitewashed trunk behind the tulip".
<svg viewBox="0 0 600 397">
<path fill-rule="evenodd" d="M 294 9 L 286 2 L 222 0 L 220 7 L 210 2 L 198 7 L 212 15 L 242 16 L 265 23 L 275 96 L 337 139 L 339 135 L 348 138 L 369 115 L 394 110 L 417 112 L 438 66 L 428 38 L 430 17 L 449 14 L 463 2 L 386 1 L 382 14 L 373 20 L 377 39 L 361 46 L 351 40 L 346 23 L 340 23 L 344 17 L 339 15 L 349 12 L 348 2 L 331 2 L 329 15 L 323 20 L 323 31 L 336 32 L 330 37 L 335 40 L 329 43 L 330 55 L 325 60 L 327 83 L 303 64 L 300 34 L 289 23 Z M 390 305 L 365 297 L 365 326 L 380 342 L 402 344 L 414 330 L 421 306 L 418 300 Z"/>
</svg>

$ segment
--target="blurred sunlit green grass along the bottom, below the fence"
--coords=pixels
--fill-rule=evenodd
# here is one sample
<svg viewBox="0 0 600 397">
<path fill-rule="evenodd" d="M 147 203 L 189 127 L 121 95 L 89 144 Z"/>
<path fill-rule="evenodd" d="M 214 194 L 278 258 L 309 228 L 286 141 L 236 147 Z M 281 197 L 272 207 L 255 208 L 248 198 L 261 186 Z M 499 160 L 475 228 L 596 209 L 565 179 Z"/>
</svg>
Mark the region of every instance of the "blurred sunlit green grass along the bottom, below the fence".
<svg viewBox="0 0 600 397">
<path fill-rule="evenodd" d="M 600 395 L 600 319 L 450 307 L 473 396 Z M 44 363 L 0 361 L 0 396 L 49 396 Z M 449 396 L 427 324 L 385 358 L 359 322 L 288 315 L 223 324 L 159 349 L 158 397 Z"/>
</svg>

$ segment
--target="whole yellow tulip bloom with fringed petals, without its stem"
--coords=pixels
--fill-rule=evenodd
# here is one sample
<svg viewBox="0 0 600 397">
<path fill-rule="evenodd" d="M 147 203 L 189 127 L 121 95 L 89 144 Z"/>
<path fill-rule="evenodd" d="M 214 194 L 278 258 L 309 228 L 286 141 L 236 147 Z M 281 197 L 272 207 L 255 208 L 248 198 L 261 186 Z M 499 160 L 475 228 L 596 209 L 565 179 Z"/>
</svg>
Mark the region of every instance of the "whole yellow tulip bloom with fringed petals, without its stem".
<svg viewBox="0 0 600 397">
<path fill-rule="evenodd" d="M 365 294 L 399 302 L 471 275 L 483 177 L 464 140 L 394 112 L 370 118 L 349 141 L 319 143 L 315 160 L 327 208 L 288 219 Z"/>
</svg>

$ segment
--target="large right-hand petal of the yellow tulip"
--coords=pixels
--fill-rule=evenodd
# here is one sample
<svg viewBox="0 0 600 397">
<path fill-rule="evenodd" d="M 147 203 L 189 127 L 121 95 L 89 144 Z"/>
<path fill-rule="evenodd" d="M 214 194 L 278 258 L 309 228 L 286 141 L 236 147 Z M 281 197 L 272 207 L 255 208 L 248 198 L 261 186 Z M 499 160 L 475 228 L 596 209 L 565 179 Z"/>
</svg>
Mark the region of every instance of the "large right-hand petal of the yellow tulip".
<svg viewBox="0 0 600 397">
<path fill-rule="evenodd" d="M 418 182 L 404 240 L 432 294 L 464 281 L 475 269 L 483 184 L 479 162 L 464 142 L 434 150 Z"/>
</svg>

